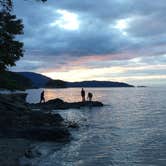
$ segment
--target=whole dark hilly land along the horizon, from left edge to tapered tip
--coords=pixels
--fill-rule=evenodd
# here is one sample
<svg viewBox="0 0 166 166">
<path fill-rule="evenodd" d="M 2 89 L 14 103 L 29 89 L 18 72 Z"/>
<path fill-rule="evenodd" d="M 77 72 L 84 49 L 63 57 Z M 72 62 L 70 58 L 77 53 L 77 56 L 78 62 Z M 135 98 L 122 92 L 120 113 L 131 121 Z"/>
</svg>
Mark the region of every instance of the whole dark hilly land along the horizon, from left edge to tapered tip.
<svg viewBox="0 0 166 166">
<path fill-rule="evenodd" d="M 119 88 L 119 87 L 134 87 L 124 82 L 114 81 L 81 81 L 81 82 L 68 82 L 63 80 L 54 80 L 42 74 L 33 72 L 11 72 L 4 71 L 0 75 L 0 89 L 9 90 L 25 90 L 32 88 L 78 88 L 78 87 L 91 87 L 91 88 Z"/>
</svg>

